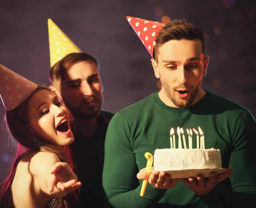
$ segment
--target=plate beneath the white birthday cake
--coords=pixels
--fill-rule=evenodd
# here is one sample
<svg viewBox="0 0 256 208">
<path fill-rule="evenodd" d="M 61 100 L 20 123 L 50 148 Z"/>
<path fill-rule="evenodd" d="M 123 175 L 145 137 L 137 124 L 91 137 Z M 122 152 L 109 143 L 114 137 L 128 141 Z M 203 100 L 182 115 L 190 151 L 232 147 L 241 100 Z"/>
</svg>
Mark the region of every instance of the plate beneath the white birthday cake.
<svg viewBox="0 0 256 208">
<path fill-rule="evenodd" d="M 196 177 L 198 174 L 201 174 L 204 178 L 209 178 L 209 173 L 215 172 L 217 174 L 223 173 L 225 168 L 207 168 L 207 169 L 187 169 L 187 170 L 158 170 L 165 171 L 168 174 L 171 174 L 172 179 L 177 178 L 189 178 Z"/>
</svg>

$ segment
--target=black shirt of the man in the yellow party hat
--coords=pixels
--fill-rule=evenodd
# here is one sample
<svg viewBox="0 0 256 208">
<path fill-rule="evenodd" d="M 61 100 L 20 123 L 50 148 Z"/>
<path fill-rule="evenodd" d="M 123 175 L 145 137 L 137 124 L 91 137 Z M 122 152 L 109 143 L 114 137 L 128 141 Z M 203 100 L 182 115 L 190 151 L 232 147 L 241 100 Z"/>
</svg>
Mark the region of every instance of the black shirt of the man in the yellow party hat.
<svg viewBox="0 0 256 208">
<path fill-rule="evenodd" d="M 77 207 L 102 207 L 106 196 L 102 187 L 104 144 L 109 121 L 114 113 L 101 110 L 93 136 L 75 133 L 70 145 L 75 172 L 82 185 L 78 194 Z"/>
</svg>

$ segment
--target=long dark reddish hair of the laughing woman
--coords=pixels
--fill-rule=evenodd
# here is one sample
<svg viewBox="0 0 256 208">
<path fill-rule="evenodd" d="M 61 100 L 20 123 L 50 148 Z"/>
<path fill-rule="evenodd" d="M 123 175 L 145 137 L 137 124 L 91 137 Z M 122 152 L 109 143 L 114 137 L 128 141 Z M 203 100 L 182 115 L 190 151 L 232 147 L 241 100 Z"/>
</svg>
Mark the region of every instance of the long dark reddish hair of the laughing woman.
<svg viewBox="0 0 256 208">
<path fill-rule="evenodd" d="M 29 112 L 28 103 L 29 103 L 29 100 L 32 98 L 32 96 L 35 94 L 35 92 L 38 92 L 39 90 L 42 90 L 42 89 L 48 90 L 49 92 L 52 92 L 54 95 L 56 95 L 56 93 L 50 90 L 48 87 L 38 86 L 37 89 L 34 92 L 32 92 L 31 95 L 25 101 L 23 101 L 22 104 L 20 104 L 18 107 L 16 107 L 13 110 L 6 111 L 5 113 L 5 122 L 6 122 L 7 130 L 9 132 L 9 139 L 14 138 L 16 140 L 17 151 L 16 151 L 16 156 L 12 162 L 12 165 L 9 167 L 9 171 L 8 171 L 9 174 L 0 185 L 1 187 L 0 205 L 2 204 L 1 203 L 2 200 L 3 201 L 6 200 L 8 190 L 11 187 L 12 180 L 15 176 L 17 165 L 20 162 L 21 156 L 23 155 L 24 152 L 26 153 L 28 151 L 35 150 L 35 151 L 54 153 L 56 156 L 60 158 L 62 162 L 67 162 L 71 166 L 71 168 L 74 168 L 68 146 L 65 146 L 63 151 L 63 149 L 58 148 L 56 144 L 50 144 L 49 142 L 47 142 L 47 140 L 41 138 L 41 136 L 38 136 L 35 132 L 32 132 L 31 130 L 29 130 L 28 125 L 30 121 L 28 117 L 28 112 Z M 69 111 L 68 113 L 70 118 L 70 125 L 72 126 L 73 116 Z M 74 128 L 72 127 L 72 129 Z M 64 198 L 76 198 L 76 194 L 74 192 L 69 193 Z M 65 199 L 57 199 L 57 200 L 52 207 L 62 207 L 63 205 L 68 206 L 68 203 L 66 202 Z M 73 199 L 71 200 L 73 201 Z"/>
</svg>

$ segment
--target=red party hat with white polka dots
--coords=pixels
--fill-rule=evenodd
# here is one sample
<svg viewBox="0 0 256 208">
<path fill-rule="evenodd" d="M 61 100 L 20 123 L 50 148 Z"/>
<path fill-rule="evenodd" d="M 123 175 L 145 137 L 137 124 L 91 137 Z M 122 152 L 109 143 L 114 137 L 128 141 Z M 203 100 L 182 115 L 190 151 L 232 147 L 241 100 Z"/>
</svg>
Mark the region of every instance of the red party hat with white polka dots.
<svg viewBox="0 0 256 208">
<path fill-rule="evenodd" d="M 141 42 L 144 44 L 151 57 L 153 58 L 153 50 L 157 33 L 162 29 L 164 23 L 144 20 L 136 17 L 127 16 L 126 19 L 137 33 Z"/>
</svg>

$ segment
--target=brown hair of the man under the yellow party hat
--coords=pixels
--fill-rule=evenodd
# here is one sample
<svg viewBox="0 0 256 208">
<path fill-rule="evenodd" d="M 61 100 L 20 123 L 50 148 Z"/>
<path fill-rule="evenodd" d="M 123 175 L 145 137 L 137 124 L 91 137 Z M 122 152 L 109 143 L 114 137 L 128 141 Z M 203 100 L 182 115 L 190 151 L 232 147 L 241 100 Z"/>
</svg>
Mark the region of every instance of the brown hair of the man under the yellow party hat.
<svg viewBox="0 0 256 208">
<path fill-rule="evenodd" d="M 49 81 L 52 83 L 55 79 L 61 78 L 62 80 L 67 70 L 81 61 L 93 62 L 99 70 L 99 61 L 94 56 L 87 53 L 70 53 L 52 66 L 49 72 Z"/>
</svg>

